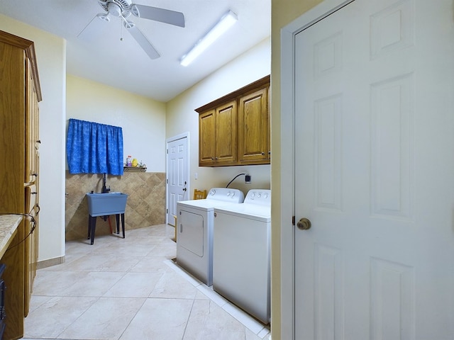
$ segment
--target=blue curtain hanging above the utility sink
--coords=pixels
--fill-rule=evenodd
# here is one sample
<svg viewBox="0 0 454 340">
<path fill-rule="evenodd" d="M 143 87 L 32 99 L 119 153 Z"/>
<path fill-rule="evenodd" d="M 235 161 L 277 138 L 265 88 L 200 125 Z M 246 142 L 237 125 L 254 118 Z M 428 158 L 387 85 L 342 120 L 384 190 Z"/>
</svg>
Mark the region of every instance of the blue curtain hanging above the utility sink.
<svg viewBox="0 0 454 340">
<path fill-rule="evenodd" d="M 70 174 L 123 175 L 123 130 L 70 119 L 66 155 Z"/>
</svg>

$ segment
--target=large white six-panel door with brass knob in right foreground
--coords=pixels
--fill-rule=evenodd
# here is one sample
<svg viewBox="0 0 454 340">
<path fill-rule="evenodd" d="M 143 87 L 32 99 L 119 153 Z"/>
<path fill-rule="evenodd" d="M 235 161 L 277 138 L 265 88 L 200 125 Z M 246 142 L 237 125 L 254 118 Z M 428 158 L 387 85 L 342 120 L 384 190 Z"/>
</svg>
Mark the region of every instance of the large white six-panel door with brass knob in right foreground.
<svg viewBox="0 0 454 340">
<path fill-rule="evenodd" d="M 295 48 L 295 339 L 453 339 L 452 0 L 355 0 Z"/>
</svg>

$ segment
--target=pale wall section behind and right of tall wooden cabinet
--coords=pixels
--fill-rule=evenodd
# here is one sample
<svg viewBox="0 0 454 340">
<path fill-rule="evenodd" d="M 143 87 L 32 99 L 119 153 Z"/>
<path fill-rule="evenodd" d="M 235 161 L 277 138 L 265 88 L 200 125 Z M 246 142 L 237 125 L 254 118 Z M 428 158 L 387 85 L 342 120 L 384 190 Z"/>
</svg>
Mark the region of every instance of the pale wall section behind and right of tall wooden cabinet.
<svg viewBox="0 0 454 340">
<path fill-rule="evenodd" d="M 38 261 L 65 254 L 66 42 L 0 14 L 0 30 L 35 42 L 40 102 L 40 232 Z"/>
</svg>

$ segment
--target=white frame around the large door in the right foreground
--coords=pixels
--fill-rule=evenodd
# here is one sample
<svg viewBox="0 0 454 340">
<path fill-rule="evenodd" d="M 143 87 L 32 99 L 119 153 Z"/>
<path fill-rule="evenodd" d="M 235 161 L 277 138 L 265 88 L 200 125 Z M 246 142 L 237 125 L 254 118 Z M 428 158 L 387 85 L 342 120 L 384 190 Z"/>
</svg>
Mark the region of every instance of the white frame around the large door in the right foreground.
<svg viewBox="0 0 454 340">
<path fill-rule="evenodd" d="M 294 51 L 295 38 L 301 30 L 314 25 L 331 13 L 354 0 L 325 0 L 303 13 L 281 29 L 281 220 L 280 220 L 280 268 L 281 268 L 281 339 L 295 336 L 295 227 L 292 225 L 294 208 Z M 292 147 L 288 147 L 291 145 Z"/>
</svg>

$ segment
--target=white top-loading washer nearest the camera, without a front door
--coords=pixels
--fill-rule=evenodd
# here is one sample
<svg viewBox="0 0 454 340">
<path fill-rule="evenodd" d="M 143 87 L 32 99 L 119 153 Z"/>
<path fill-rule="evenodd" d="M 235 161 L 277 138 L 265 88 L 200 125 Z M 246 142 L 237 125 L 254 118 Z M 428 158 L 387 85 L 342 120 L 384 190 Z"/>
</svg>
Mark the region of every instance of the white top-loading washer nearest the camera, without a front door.
<svg viewBox="0 0 454 340">
<path fill-rule="evenodd" d="M 271 191 L 214 208 L 213 288 L 261 322 L 270 322 Z"/>
</svg>

